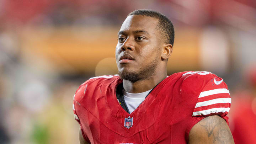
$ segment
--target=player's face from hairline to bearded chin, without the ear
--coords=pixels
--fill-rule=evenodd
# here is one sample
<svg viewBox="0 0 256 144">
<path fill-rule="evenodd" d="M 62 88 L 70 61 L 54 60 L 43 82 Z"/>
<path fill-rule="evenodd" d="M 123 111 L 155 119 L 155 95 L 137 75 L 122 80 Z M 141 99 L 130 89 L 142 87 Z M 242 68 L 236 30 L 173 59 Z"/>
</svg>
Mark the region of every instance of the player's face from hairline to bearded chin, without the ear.
<svg viewBox="0 0 256 144">
<path fill-rule="evenodd" d="M 156 18 L 128 16 L 118 32 L 116 62 L 122 79 L 137 81 L 154 75 L 161 61 L 160 32 Z"/>
</svg>

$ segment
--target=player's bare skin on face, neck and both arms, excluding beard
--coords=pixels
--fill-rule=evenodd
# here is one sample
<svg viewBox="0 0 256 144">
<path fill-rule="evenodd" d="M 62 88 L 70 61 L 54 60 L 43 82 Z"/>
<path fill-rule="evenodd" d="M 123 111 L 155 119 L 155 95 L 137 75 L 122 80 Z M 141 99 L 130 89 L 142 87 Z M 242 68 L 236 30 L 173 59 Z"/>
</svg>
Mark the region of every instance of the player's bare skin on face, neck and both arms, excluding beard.
<svg viewBox="0 0 256 144">
<path fill-rule="evenodd" d="M 172 52 L 172 45 L 166 43 L 157 29 L 156 18 L 133 15 L 123 22 L 118 33 L 116 62 L 119 71 L 138 71 L 151 63 L 156 63 L 155 71 L 146 79 L 137 81 L 123 80 L 124 90 L 129 93 L 140 93 L 153 89 L 167 76 L 167 60 Z M 120 63 L 123 54 L 131 55 L 134 60 Z M 87 144 L 81 130 L 81 144 Z M 209 116 L 193 126 L 189 133 L 189 144 L 233 144 L 234 140 L 225 120 L 219 116 Z"/>
</svg>

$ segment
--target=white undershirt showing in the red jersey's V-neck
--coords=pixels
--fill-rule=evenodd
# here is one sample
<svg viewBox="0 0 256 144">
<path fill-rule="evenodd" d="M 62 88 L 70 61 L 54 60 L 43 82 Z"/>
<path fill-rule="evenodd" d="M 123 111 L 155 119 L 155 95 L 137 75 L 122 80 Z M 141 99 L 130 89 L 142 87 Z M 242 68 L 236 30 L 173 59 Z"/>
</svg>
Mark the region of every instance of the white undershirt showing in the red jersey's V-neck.
<svg viewBox="0 0 256 144">
<path fill-rule="evenodd" d="M 151 89 L 152 90 L 152 89 Z M 132 113 L 139 105 L 145 100 L 145 97 L 151 91 L 145 91 L 138 94 L 128 93 L 123 89 L 124 101 L 129 109 L 129 112 Z"/>
</svg>

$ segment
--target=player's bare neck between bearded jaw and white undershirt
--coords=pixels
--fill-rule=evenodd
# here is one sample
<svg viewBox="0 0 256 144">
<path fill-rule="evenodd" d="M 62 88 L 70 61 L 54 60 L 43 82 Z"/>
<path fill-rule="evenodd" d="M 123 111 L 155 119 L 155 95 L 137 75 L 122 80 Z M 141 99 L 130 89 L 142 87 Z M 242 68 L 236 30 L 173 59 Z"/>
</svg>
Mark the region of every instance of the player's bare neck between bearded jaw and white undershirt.
<svg viewBox="0 0 256 144">
<path fill-rule="evenodd" d="M 128 80 L 123 80 L 123 87 L 126 92 L 129 93 L 141 93 L 153 89 L 159 82 L 164 80 L 167 76 L 167 72 L 159 71 L 148 79 L 138 80 L 131 82 Z"/>
</svg>

